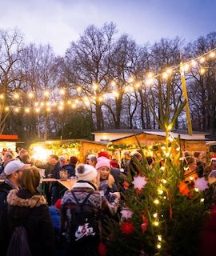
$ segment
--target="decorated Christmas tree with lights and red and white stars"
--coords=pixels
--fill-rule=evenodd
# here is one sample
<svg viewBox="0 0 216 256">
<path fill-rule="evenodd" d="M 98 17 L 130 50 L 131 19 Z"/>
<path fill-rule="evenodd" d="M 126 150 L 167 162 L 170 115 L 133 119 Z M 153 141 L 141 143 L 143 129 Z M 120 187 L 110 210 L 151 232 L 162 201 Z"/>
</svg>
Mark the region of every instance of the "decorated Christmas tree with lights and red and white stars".
<svg viewBox="0 0 216 256">
<path fill-rule="evenodd" d="M 199 232 L 210 209 L 210 190 L 205 178 L 187 170 L 180 141 L 170 133 L 185 102 L 179 101 L 171 118 L 169 97 L 166 106 L 159 104 L 160 118 L 153 111 L 166 131 L 166 145 L 151 147 L 154 165 L 140 150 L 143 158 L 135 161 L 137 173 L 127 172 L 120 222 L 107 222 L 107 255 L 197 254 Z"/>
</svg>

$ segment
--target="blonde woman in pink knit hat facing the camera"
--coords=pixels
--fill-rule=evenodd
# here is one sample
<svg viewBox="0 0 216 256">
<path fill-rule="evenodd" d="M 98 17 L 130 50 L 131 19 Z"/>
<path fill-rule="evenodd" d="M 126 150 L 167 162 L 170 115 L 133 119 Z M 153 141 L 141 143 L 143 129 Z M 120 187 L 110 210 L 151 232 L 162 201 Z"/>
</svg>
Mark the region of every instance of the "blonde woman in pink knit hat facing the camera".
<svg viewBox="0 0 216 256">
<path fill-rule="evenodd" d="M 109 211 L 103 210 L 103 212 L 108 216 L 114 215 L 118 210 L 120 193 L 113 175 L 110 174 L 110 161 L 106 158 L 98 158 L 95 168 L 98 171 L 98 190 L 109 209 Z"/>
</svg>

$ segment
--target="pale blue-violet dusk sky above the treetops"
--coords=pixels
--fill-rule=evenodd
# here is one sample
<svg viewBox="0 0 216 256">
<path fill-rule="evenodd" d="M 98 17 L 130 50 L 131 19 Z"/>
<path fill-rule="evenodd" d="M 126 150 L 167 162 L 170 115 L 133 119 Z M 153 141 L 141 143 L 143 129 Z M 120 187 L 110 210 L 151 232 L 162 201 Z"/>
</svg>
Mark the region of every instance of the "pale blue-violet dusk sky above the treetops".
<svg viewBox="0 0 216 256">
<path fill-rule="evenodd" d="M 114 22 L 138 43 L 179 35 L 187 42 L 216 31 L 215 0 L 0 0 L 0 28 L 64 54 L 86 26 Z"/>
</svg>

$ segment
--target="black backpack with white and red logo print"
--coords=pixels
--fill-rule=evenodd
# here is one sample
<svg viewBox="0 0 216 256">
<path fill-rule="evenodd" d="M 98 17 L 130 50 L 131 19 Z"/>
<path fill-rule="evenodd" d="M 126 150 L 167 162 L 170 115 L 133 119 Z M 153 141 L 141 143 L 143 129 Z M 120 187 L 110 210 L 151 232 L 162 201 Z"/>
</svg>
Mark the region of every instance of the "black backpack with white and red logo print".
<svg viewBox="0 0 216 256">
<path fill-rule="evenodd" d="M 78 202 L 74 191 L 71 191 L 76 201 L 74 210 L 70 210 L 70 242 L 97 242 L 99 239 L 98 213 L 94 206 L 87 203 L 93 192 L 87 194 L 82 202 Z"/>
</svg>

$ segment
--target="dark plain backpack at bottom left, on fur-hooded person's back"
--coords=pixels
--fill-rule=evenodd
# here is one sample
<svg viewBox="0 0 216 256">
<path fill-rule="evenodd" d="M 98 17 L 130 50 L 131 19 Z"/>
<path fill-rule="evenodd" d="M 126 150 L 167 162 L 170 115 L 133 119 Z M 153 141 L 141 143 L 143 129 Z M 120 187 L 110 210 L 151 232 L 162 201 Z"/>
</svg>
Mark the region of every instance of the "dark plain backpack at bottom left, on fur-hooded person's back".
<svg viewBox="0 0 216 256">
<path fill-rule="evenodd" d="M 6 256 L 31 256 L 28 237 L 24 226 L 16 226 L 10 238 Z"/>
</svg>

